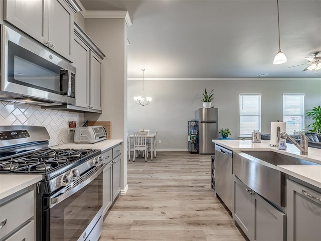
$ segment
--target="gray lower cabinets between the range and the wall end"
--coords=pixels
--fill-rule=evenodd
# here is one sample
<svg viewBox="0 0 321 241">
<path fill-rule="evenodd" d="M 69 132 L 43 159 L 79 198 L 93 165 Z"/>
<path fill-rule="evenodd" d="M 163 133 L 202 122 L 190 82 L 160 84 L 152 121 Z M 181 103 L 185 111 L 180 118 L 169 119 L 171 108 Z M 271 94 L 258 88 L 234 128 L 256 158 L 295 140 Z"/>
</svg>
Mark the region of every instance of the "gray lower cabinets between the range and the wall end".
<svg viewBox="0 0 321 241">
<path fill-rule="evenodd" d="M 105 162 L 107 163 L 103 171 L 102 194 L 103 215 L 105 215 L 120 193 L 121 144 L 104 151 L 102 155 L 105 157 Z"/>
</svg>

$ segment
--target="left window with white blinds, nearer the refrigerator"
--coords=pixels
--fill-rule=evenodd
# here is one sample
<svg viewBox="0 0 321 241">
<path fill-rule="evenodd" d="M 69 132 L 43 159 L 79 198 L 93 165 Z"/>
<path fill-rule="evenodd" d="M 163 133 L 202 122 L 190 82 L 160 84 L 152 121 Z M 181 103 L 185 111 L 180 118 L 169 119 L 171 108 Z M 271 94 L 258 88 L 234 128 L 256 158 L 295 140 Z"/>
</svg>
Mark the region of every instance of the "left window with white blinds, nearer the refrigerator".
<svg viewBox="0 0 321 241">
<path fill-rule="evenodd" d="M 261 131 L 261 95 L 240 94 L 240 137 Z"/>
</svg>

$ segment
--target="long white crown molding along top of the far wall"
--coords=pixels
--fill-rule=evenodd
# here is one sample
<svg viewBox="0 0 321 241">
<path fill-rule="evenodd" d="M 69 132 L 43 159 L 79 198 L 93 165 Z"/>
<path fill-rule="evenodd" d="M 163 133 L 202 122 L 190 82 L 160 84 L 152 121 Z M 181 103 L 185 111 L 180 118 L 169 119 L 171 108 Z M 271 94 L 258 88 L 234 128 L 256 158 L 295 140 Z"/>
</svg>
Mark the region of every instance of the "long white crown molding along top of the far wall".
<svg viewBox="0 0 321 241">
<path fill-rule="evenodd" d="M 127 80 L 141 80 L 140 78 L 127 78 Z M 321 78 L 145 78 L 144 80 L 171 80 L 171 81 L 178 81 L 178 80 L 205 80 L 205 81 L 217 81 L 217 80 L 255 80 L 255 81 L 282 81 L 282 80 L 316 80 L 321 81 Z"/>
</svg>

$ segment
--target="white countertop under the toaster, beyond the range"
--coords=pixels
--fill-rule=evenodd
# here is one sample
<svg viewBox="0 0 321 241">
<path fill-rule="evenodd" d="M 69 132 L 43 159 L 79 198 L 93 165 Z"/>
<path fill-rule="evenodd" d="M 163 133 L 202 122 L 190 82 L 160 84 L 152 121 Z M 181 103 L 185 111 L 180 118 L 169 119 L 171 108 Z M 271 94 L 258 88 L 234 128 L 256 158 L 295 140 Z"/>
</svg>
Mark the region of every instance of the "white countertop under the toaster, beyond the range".
<svg viewBox="0 0 321 241">
<path fill-rule="evenodd" d="M 97 142 L 97 143 L 74 143 L 74 142 L 70 142 L 70 143 L 66 143 L 66 144 L 62 144 L 62 145 L 58 145 L 58 146 L 53 146 L 51 147 L 52 149 L 58 149 L 58 148 L 83 148 L 83 149 L 100 149 L 101 151 L 105 151 L 117 144 L 122 143 L 123 140 L 104 140 L 101 142 Z"/>
</svg>

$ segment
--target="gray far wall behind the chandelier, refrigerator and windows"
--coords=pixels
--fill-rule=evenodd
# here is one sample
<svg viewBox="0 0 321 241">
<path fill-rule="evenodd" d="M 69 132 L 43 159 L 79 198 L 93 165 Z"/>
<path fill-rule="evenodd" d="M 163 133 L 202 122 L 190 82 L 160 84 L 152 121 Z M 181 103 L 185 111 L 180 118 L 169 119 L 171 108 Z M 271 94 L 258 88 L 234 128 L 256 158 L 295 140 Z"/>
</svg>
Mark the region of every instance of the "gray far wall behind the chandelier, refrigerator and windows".
<svg viewBox="0 0 321 241">
<path fill-rule="evenodd" d="M 145 71 L 145 77 L 147 75 Z M 219 128 L 229 128 L 239 136 L 239 94 L 261 94 L 261 132 L 270 133 L 270 123 L 282 121 L 282 95 L 305 94 L 305 109 L 321 104 L 321 80 L 146 80 L 145 96 L 152 102 L 137 105 L 133 96 L 141 95 L 142 81 L 128 81 L 128 133 L 139 129 L 158 130 L 157 149 L 187 149 L 187 122 L 202 107 L 204 88 L 214 88 L 212 105 L 219 108 Z M 305 124 L 310 121 L 306 120 Z M 305 126 L 306 126 L 305 125 Z M 162 144 L 158 143 L 162 141 Z"/>
</svg>

